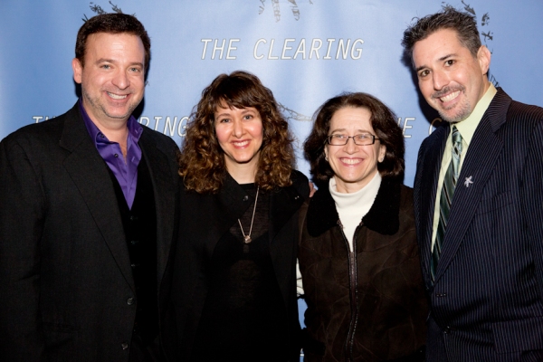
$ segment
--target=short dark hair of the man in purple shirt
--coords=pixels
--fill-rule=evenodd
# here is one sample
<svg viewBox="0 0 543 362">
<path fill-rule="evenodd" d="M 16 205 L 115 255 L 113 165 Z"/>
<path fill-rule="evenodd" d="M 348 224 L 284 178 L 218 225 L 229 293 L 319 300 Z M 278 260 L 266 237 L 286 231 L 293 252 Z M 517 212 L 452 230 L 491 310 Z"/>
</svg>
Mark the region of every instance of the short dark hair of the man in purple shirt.
<svg viewBox="0 0 543 362">
<path fill-rule="evenodd" d="M 75 42 L 75 57 L 85 66 L 85 51 L 87 38 L 93 33 L 129 33 L 139 36 L 145 49 L 145 70 L 151 59 L 151 40 L 143 24 L 135 16 L 129 14 L 111 13 L 92 16 L 83 24 L 77 33 Z"/>
</svg>

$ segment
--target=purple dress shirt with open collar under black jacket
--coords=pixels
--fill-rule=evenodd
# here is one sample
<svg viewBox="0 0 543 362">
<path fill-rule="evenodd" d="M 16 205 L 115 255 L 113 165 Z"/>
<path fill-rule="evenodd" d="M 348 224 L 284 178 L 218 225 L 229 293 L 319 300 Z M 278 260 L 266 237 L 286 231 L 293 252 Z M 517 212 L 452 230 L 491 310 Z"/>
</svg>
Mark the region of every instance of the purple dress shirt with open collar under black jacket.
<svg viewBox="0 0 543 362">
<path fill-rule="evenodd" d="M 132 208 L 134 197 L 136 196 L 136 186 L 138 184 L 138 164 L 141 160 L 141 148 L 139 148 L 138 140 L 141 137 L 143 127 L 138 124 L 138 121 L 130 116 L 128 121 L 129 138 L 127 139 L 127 157 L 126 162 L 122 157 L 119 143 L 111 142 L 98 127 L 92 122 L 87 111 L 83 107 L 83 103 L 79 101 L 81 114 L 85 126 L 89 131 L 90 138 L 94 142 L 94 146 L 98 149 L 100 156 L 106 161 L 113 175 L 117 178 L 125 200 Z"/>
</svg>

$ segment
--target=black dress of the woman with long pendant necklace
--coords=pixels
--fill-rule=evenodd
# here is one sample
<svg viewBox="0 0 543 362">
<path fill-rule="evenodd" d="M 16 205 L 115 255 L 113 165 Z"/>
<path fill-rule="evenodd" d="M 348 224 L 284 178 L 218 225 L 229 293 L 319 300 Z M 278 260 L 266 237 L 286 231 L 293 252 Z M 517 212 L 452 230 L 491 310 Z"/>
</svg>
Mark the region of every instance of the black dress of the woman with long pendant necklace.
<svg viewBox="0 0 543 362">
<path fill-rule="evenodd" d="M 254 221 L 254 184 L 242 185 L 252 197 L 243 214 L 243 243 L 236 221 L 221 237 L 205 266 L 209 291 L 195 336 L 192 361 L 286 361 L 286 311 L 270 256 L 269 195 L 259 192 Z"/>
</svg>

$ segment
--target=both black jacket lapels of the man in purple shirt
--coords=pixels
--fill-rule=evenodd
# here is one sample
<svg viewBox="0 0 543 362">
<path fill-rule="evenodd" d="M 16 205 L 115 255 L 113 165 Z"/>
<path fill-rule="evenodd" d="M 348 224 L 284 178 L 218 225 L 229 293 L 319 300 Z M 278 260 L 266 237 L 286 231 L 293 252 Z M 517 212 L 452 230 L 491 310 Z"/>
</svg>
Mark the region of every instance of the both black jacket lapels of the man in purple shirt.
<svg viewBox="0 0 543 362">
<path fill-rule="evenodd" d="M 171 151 L 163 147 L 162 143 L 157 144 L 150 133 L 149 129 L 144 127 L 139 143 L 145 157 L 152 160 L 148 162 L 148 168 L 155 189 L 157 206 L 159 255 L 157 262 L 160 278 L 166 269 L 174 233 L 176 177 L 171 174 L 169 167 L 171 162 L 168 161 L 174 155 L 168 155 Z M 63 167 L 87 203 L 90 214 L 117 261 L 119 269 L 135 291 L 122 224 L 111 222 L 111 220 L 120 220 L 117 196 L 111 186 L 108 168 L 90 138 L 77 103 L 64 117 L 64 128 L 59 145 L 70 151 L 70 154 L 62 161 Z"/>
</svg>

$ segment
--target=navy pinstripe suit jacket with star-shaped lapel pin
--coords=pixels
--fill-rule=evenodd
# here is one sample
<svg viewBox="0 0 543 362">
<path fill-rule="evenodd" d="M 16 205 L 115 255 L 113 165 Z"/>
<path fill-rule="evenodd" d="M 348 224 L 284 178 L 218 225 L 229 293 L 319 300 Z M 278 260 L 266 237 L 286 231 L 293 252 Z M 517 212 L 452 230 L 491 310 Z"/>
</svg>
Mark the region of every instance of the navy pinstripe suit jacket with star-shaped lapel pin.
<svg viewBox="0 0 543 362">
<path fill-rule="evenodd" d="M 424 140 L 414 180 L 431 299 L 427 360 L 543 360 L 543 109 L 498 89 L 462 156 L 432 282 L 433 209 L 449 132 L 447 125 Z"/>
</svg>

